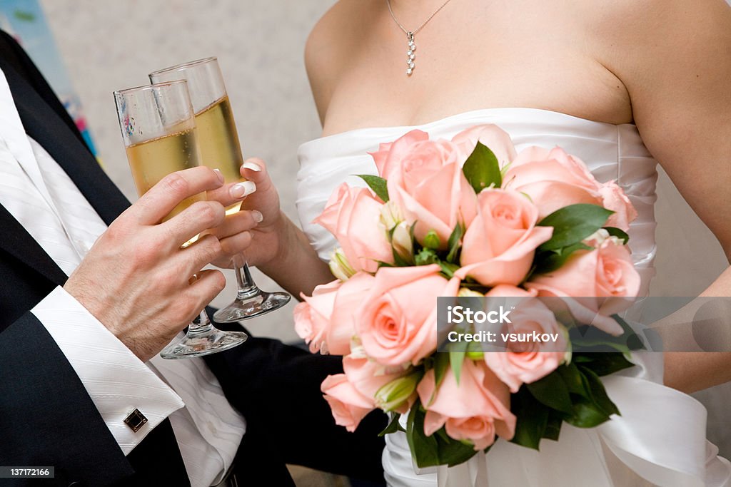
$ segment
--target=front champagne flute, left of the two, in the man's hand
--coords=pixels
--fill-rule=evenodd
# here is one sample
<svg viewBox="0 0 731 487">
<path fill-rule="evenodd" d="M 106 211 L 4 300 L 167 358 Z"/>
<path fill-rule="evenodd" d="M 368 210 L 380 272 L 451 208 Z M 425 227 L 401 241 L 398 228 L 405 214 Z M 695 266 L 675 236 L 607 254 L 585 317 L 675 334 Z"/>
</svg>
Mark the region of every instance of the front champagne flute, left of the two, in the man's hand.
<svg viewBox="0 0 731 487">
<path fill-rule="evenodd" d="M 114 100 L 129 168 L 140 196 L 171 172 L 200 166 L 195 118 L 185 81 L 115 91 Z M 205 193 L 186 198 L 162 221 L 204 200 Z M 183 248 L 197 239 L 193 237 Z M 167 345 L 160 356 L 208 355 L 240 345 L 247 338 L 243 331 L 214 328 L 204 308 L 188 326 L 185 337 Z"/>
</svg>

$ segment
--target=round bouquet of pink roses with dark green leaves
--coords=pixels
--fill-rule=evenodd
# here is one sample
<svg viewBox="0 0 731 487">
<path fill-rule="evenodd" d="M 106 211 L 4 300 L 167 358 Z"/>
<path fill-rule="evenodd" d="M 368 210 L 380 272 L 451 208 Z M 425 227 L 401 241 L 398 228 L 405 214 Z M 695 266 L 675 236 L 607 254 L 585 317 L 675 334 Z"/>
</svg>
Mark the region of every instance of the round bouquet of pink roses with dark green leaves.
<svg viewBox="0 0 731 487">
<path fill-rule="evenodd" d="M 625 233 L 636 212 L 621 188 L 559 147 L 518 154 L 491 125 L 451 141 L 410 131 L 371 156 L 368 188 L 341 185 L 316 220 L 338 240 L 337 280 L 295 308 L 311 351 L 344 356 L 344 374 L 322 383 L 336 422 L 353 431 L 387 411 L 383 434 L 404 430 L 427 467 L 466 461 L 496 437 L 538 448 L 564 421 L 618 414 L 599 377 L 631 367 L 641 346 L 616 315 L 640 288 Z M 501 352 L 444 340 L 438 296 L 521 299 L 504 329 L 553 340 Z"/>
</svg>

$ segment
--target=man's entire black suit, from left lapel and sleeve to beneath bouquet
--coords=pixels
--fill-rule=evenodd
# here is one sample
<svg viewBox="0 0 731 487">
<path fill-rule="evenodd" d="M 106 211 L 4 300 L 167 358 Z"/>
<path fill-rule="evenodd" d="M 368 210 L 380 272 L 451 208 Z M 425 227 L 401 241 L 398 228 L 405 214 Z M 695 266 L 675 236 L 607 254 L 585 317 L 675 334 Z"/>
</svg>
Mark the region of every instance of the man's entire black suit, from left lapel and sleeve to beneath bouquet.
<svg viewBox="0 0 731 487">
<path fill-rule="evenodd" d="M 2 31 L 0 69 L 27 134 L 111 223 L 129 202 L 26 53 Z M 66 275 L 1 205 L 0 229 L 0 465 L 55 467 L 55 480 L 42 485 L 188 486 L 167 420 L 124 456 L 66 357 L 29 311 Z M 205 360 L 247 421 L 236 461 L 246 485 L 293 485 L 285 462 L 382 480 L 383 441 L 376 434 L 385 418 L 371 415 L 358 432 L 346 433 L 319 393 L 327 375 L 342 371 L 340 358 L 251 337 Z M 0 483 L 6 482 L 34 485 Z"/>
</svg>

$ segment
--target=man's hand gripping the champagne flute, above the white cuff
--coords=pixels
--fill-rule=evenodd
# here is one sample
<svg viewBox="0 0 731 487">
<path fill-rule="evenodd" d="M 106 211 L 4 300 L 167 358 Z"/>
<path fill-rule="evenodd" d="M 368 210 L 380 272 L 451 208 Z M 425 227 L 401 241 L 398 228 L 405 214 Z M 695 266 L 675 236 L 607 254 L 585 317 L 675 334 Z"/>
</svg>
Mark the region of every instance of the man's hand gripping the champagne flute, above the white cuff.
<svg viewBox="0 0 731 487">
<path fill-rule="evenodd" d="M 207 234 L 181 248 L 224 221 L 223 205 L 197 202 L 159 223 L 183 199 L 222 185 L 219 173 L 202 166 L 164 177 L 113 221 L 64 285 L 143 361 L 159 353 L 224 288 L 221 272 L 200 272 L 221 258 L 218 238 Z M 189 284 L 193 274 L 198 279 Z"/>
</svg>

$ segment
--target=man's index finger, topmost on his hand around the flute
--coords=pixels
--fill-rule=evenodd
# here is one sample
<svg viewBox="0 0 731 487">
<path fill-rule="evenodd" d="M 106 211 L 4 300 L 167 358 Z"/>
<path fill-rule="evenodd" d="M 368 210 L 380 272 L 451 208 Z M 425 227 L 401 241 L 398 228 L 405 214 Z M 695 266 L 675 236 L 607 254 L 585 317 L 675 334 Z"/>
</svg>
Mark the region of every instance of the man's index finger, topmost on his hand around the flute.
<svg viewBox="0 0 731 487">
<path fill-rule="evenodd" d="M 143 225 L 154 225 L 165 218 L 183 199 L 220 188 L 220 172 L 205 166 L 170 173 L 132 205 L 131 214 Z"/>
</svg>

